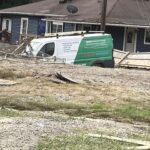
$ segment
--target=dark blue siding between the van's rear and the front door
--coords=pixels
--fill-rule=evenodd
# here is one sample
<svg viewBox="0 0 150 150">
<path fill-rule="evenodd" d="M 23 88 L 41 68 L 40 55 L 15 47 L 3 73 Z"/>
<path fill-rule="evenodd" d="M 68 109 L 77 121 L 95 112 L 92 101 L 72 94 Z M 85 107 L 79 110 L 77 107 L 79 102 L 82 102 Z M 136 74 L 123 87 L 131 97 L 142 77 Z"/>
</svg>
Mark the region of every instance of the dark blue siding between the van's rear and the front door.
<svg viewBox="0 0 150 150">
<path fill-rule="evenodd" d="M 123 50 L 124 27 L 107 26 L 106 32 L 112 35 L 114 41 L 114 48 Z"/>
</svg>

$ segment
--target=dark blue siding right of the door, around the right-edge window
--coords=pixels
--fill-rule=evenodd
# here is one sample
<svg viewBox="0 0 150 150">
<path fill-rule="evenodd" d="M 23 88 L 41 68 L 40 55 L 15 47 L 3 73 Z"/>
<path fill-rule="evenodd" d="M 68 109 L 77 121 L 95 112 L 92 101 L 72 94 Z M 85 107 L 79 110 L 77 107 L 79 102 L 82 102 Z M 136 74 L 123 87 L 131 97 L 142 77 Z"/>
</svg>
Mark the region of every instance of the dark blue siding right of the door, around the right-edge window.
<svg viewBox="0 0 150 150">
<path fill-rule="evenodd" d="M 136 49 L 139 52 L 150 52 L 150 45 L 144 44 L 144 33 L 145 33 L 145 29 L 138 29 Z"/>
</svg>

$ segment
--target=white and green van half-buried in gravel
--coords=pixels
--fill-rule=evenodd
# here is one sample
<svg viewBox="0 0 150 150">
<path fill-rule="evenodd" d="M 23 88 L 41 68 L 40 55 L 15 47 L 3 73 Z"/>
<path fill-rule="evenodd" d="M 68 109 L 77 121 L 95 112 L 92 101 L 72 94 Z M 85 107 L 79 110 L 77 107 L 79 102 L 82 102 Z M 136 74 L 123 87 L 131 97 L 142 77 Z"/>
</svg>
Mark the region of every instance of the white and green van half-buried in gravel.
<svg viewBox="0 0 150 150">
<path fill-rule="evenodd" d="M 94 33 L 33 39 L 26 52 L 33 56 L 55 56 L 65 63 L 113 67 L 113 40 L 110 34 Z"/>
</svg>

